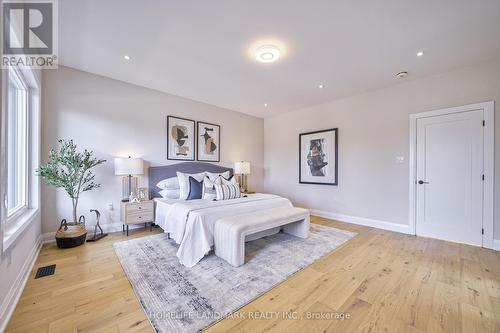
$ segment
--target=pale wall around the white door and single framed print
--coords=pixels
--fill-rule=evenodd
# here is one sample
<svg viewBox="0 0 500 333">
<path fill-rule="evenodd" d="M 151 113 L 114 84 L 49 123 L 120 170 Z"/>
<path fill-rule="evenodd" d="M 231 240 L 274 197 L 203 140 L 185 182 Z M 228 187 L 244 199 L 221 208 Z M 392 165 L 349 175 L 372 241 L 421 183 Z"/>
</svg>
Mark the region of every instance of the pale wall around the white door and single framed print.
<svg viewBox="0 0 500 333">
<path fill-rule="evenodd" d="M 407 225 L 409 114 L 491 100 L 500 101 L 500 60 L 266 118 L 265 188 L 311 209 Z M 500 116 L 495 126 L 497 208 Z M 339 128 L 339 185 L 299 184 L 299 133 L 332 127 Z"/>
</svg>

